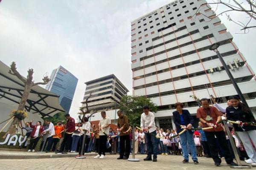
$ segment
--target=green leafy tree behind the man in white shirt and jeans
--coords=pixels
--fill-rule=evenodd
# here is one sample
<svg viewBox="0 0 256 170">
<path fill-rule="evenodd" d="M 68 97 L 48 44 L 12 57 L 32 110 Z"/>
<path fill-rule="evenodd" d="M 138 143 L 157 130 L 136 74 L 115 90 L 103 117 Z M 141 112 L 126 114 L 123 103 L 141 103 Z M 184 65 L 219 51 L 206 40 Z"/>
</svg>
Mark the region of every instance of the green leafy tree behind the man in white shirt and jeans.
<svg viewBox="0 0 256 170">
<path fill-rule="evenodd" d="M 156 104 L 145 96 L 122 96 L 119 109 L 128 116 L 130 125 L 140 126 L 140 115 L 145 105 L 148 105 L 151 112 L 157 112 Z"/>
</svg>

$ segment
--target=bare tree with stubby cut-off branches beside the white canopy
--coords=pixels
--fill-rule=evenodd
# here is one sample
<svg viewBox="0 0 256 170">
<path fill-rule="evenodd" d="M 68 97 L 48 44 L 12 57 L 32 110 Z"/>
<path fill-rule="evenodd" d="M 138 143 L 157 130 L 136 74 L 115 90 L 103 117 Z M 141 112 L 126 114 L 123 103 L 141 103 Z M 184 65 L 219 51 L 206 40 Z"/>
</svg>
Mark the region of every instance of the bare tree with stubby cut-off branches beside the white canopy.
<svg viewBox="0 0 256 170">
<path fill-rule="evenodd" d="M 14 76 L 16 76 L 18 79 L 20 79 L 23 83 L 24 83 L 24 91 L 23 91 L 23 94 L 22 94 L 22 97 L 20 99 L 20 103 L 19 103 L 19 106 L 18 106 L 18 111 L 23 111 L 24 108 L 25 108 L 25 105 L 26 105 L 26 100 L 28 99 L 29 97 L 29 93 L 31 91 L 31 88 L 35 85 L 46 85 L 50 79 L 48 78 L 48 76 L 45 76 L 43 78 L 43 82 L 34 82 L 33 81 L 33 69 L 30 68 L 28 70 L 28 75 L 26 78 L 22 77 L 20 75 L 20 73 L 17 71 L 17 68 L 16 68 L 16 63 L 15 62 L 12 62 L 11 64 L 11 70 L 9 70 L 8 72 L 9 74 L 12 74 Z M 18 125 L 18 123 L 20 122 L 19 119 L 17 118 L 14 118 L 10 127 L 8 128 L 6 134 L 3 136 L 3 138 L 6 137 L 6 135 L 9 133 L 11 135 L 14 135 L 15 134 L 15 131 L 16 131 L 16 126 L 15 125 Z"/>
</svg>

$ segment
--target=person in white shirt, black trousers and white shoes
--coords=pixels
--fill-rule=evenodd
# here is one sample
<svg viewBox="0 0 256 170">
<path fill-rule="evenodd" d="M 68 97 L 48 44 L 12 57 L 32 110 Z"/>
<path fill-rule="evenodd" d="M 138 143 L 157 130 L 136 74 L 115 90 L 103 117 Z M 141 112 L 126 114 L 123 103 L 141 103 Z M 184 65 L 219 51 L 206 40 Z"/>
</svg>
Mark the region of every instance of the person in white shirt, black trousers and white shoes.
<svg viewBox="0 0 256 170">
<path fill-rule="evenodd" d="M 99 121 L 99 153 L 94 158 L 103 159 L 105 156 L 107 139 L 109 134 L 109 126 L 111 124 L 111 119 L 106 116 L 106 112 L 101 112 L 102 119 Z"/>
</svg>

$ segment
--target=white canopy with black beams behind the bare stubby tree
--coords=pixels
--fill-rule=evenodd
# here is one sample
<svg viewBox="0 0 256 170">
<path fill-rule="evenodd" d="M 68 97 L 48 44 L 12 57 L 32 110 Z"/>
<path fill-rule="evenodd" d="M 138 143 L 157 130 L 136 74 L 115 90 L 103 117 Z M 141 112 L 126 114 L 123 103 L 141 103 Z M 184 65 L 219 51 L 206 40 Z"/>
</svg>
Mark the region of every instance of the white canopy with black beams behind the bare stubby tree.
<svg viewBox="0 0 256 170">
<path fill-rule="evenodd" d="M 19 104 L 24 83 L 16 76 L 9 74 L 9 70 L 10 68 L 0 61 L 0 100 Z M 58 97 L 39 85 L 35 85 L 30 91 L 25 109 L 32 114 L 40 113 L 42 117 L 52 117 L 58 112 L 65 112 L 58 102 Z"/>
</svg>

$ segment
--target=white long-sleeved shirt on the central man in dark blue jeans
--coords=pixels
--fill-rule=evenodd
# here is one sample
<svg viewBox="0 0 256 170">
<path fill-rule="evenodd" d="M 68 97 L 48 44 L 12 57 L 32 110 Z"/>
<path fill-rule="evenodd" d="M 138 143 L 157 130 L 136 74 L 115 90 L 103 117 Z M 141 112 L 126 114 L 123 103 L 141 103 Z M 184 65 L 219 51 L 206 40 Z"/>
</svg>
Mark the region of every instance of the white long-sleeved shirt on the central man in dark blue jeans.
<svg viewBox="0 0 256 170">
<path fill-rule="evenodd" d="M 157 130 L 156 123 L 154 122 L 154 113 L 152 112 L 149 112 L 148 115 L 142 113 L 140 117 L 140 127 L 143 129 L 144 127 L 148 126 L 150 126 L 150 128 L 148 129 L 149 133 Z"/>
</svg>

